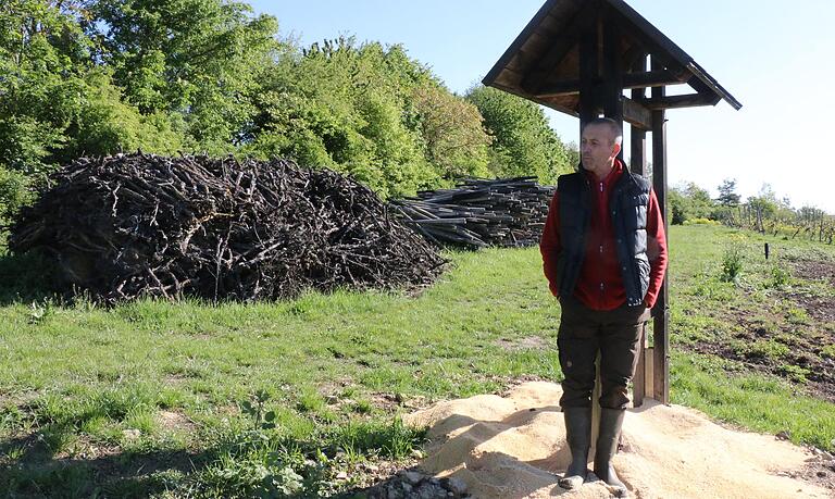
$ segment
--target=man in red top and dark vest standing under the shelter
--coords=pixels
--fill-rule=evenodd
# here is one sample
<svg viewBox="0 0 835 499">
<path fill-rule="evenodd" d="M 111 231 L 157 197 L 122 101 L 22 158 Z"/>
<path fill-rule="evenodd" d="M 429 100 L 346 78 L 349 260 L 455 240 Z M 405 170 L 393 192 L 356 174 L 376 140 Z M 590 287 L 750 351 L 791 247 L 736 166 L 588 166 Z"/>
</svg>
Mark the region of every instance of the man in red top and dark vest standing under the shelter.
<svg viewBox="0 0 835 499">
<path fill-rule="evenodd" d="M 578 172 L 558 180 L 539 249 L 562 314 L 557 345 L 565 376 L 560 407 L 572 462 L 563 488 L 583 484 L 591 440 L 591 390 L 600 353 L 600 428 L 595 474 L 625 489 L 612 467 L 630 403 L 644 324 L 666 270 L 658 199 L 618 159 L 621 126 L 597 118 L 582 133 Z"/>
</svg>

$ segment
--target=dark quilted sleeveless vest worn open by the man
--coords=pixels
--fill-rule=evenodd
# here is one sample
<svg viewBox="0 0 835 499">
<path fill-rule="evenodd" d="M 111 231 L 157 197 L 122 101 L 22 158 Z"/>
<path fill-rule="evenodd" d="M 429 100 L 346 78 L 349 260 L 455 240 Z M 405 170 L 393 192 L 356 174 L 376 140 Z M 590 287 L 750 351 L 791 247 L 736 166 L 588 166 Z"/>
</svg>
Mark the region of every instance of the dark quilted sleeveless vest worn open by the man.
<svg viewBox="0 0 835 499">
<path fill-rule="evenodd" d="M 560 176 L 560 242 L 557 271 L 561 296 L 572 296 L 586 254 L 585 236 L 591 217 L 591 183 L 584 172 Z M 615 251 L 626 288 L 626 304 L 638 305 L 649 287 L 647 207 L 649 182 L 624 170 L 612 188 L 609 210 Z"/>
</svg>

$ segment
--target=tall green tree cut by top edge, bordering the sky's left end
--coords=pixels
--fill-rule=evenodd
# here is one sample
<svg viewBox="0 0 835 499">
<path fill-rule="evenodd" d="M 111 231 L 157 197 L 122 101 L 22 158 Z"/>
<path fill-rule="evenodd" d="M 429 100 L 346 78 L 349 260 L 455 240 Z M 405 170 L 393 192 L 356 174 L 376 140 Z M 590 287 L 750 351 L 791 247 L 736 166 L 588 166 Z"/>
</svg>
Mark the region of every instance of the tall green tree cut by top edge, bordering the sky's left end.
<svg viewBox="0 0 835 499">
<path fill-rule="evenodd" d="M 234 150 L 276 49 L 274 17 L 235 1 L 91 0 L 84 26 L 142 115 L 179 113 L 192 148 Z"/>
</svg>

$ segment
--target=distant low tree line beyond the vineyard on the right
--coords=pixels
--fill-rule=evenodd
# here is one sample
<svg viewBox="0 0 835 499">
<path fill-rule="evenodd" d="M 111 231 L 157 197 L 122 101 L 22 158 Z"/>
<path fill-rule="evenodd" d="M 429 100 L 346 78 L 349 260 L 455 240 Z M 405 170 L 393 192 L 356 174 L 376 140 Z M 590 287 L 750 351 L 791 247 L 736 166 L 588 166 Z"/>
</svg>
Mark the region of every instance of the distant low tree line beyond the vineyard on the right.
<svg viewBox="0 0 835 499">
<path fill-rule="evenodd" d="M 788 198 L 778 198 L 765 184 L 757 196 L 743 202 L 736 180 L 725 179 L 719 196 L 694 183 L 672 187 L 666 197 L 671 224 L 722 223 L 786 238 L 803 237 L 828 245 L 835 238 L 835 216 L 815 207 L 794 208 Z"/>
</svg>

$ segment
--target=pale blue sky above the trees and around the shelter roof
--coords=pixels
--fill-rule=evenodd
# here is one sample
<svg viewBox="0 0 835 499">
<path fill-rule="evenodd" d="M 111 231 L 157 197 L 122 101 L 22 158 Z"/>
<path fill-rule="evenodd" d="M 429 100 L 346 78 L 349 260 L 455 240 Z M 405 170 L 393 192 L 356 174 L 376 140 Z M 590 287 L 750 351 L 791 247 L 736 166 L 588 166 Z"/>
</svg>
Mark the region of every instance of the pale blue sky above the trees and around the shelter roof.
<svg viewBox="0 0 835 499">
<path fill-rule="evenodd" d="M 763 184 L 795 207 L 835 213 L 835 0 L 627 0 L 743 102 L 668 113 L 670 183 L 711 189 L 735 178 L 747 197 Z M 463 93 L 493 67 L 539 0 L 250 1 L 302 45 L 352 35 L 401 43 Z M 549 112 L 564 141 L 577 120 Z M 627 151 L 628 154 L 628 151 Z"/>
</svg>

